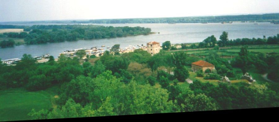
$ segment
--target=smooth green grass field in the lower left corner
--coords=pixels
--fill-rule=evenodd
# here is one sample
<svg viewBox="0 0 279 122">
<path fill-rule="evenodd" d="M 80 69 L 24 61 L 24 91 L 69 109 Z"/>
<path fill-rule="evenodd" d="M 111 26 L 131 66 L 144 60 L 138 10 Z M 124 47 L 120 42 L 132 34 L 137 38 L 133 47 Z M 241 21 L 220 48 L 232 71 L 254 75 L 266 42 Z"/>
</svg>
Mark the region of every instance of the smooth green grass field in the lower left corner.
<svg viewBox="0 0 279 122">
<path fill-rule="evenodd" d="M 0 121 L 29 120 L 27 114 L 55 107 L 55 93 L 50 90 L 29 92 L 23 88 L 0 91 Z"/>
</svg>

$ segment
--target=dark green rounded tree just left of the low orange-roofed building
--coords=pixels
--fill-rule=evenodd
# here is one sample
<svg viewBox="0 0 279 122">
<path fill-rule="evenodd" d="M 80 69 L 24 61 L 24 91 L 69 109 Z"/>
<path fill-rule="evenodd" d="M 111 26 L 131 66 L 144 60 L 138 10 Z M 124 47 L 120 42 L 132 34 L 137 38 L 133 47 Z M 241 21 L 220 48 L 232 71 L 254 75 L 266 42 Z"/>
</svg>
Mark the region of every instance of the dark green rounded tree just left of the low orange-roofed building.
<svg viewBox="0 0 279 122">
<path fill-rule="evenodd" d="M 185 82 L 185 79 L 189 77 L 189 72 L 185 66 L 175 68 L 174 76 L 180 82 Z"/>
</svg>

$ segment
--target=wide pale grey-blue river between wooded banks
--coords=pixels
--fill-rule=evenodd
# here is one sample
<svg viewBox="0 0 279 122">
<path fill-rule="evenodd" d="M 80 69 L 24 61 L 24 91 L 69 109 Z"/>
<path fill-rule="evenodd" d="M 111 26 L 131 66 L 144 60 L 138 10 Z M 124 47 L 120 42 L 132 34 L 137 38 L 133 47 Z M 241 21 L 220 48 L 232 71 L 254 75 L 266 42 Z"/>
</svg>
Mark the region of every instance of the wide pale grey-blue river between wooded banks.
<svg viewBox="0 0 279 122">
<path fill-rule="evenodd" d="M 15 24 L 32 26 L 33 24 Z M 47 24 L 48 25 L 48 24 Z M 120 37 L 110 39 L 98 40 L 78 40 L 78 41 L 65 41 L 60 43 L 47 43 L 38 45 L 20 45 L 10 48 L 0 48 L 0 58 L 13 59 L 21 58 L 23 54 L 31 54 L 33 57 L 41 56 L 42 54 L 50 54 L 55 58 L 59 53 L 65 50 L 73 50 L 79 48 L 91 48 L 97 46 L 100 48 L 102 45 L 112 47 L 114 44 L 120 44 L 121 48 L 128 47 L 129 45 L 146 45 L 150 41 L 160 42 L 161 45 L 165 41 L 170 41 L 172 44 L 176 43 L 190 43 L 201 42 L 206 37 L 214 35 L 219 40 L 223 31 L 228 32 L 229 39 L 236 38 L 262 38 L 274 36 L 279 33 L 279 25 L 271 23 L 181 23 L 181 24 L 95 24 L 104 26 L 130 26 L 130 27 L 145 27 L 151 28 L 152 32 L 156 34 L 140 35 L 132 37 Z M 160 32 L 160 33 L 158 33 Z M 106 47 L 104 49 L 106 49 Z"/>
</svg>

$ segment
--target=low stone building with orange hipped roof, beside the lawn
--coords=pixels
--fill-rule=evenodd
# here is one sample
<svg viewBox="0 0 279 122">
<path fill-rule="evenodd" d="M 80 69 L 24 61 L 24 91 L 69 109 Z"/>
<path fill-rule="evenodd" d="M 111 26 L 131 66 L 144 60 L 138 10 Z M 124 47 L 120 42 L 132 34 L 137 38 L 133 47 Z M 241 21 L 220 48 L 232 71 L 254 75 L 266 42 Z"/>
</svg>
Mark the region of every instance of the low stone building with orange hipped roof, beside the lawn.
<svg viewBox="0 0 279 122">
<path fill-rule="evenodd" d="M 193 72 L 197 72 L 198 70 L 202 70 L 204 72 L 206 69 L 210 69 L 210 71 L 212 71 L 215 69 L 215 66 L 203 60 L 192 63 Z"/>
</svg>

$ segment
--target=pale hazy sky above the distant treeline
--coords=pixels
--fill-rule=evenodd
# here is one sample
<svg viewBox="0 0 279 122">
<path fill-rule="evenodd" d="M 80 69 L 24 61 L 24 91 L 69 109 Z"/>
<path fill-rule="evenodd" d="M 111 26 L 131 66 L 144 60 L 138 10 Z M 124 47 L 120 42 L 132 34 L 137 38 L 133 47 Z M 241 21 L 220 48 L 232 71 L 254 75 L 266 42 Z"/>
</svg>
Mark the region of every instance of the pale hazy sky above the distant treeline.
<svg viewBox="0 0 279 122">
<path fill-rule="evenodd" d="M 0 22 L 279 13 L 279 0 L 0 0 Z"/>
</svg>

